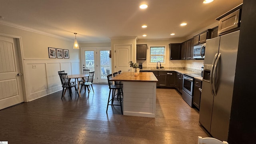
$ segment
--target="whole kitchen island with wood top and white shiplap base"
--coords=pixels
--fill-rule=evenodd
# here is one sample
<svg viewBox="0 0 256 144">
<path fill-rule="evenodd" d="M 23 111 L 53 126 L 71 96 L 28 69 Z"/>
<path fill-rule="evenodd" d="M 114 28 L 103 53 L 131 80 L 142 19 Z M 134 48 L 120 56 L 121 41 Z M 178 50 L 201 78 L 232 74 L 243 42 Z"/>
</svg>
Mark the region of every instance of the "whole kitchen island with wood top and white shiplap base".
<svg viewBox="0 0 256 144">
<path fill-rule="evenodd" d="M 156 116 L 156 76 L 152 72 L 122 72 L 112 77 L 112 81 L 124 84 L 123 114 L 128 116 Z"/>
</svg>

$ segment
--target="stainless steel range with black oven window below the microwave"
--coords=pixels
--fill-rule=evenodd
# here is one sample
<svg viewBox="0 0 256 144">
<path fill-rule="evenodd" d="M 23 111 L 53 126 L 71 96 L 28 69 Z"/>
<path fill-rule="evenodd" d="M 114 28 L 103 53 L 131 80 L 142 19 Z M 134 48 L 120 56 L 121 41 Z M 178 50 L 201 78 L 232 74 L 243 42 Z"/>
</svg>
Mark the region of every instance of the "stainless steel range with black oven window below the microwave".
<svg viewBox="0 0 256 144">
<path fill-rule="evenodd" d="M 190 107 L 192 107 L 193 103 L 194 77 L 199 76 L 201 74 L 183 74 L 182 98 Z"/>
</svg>

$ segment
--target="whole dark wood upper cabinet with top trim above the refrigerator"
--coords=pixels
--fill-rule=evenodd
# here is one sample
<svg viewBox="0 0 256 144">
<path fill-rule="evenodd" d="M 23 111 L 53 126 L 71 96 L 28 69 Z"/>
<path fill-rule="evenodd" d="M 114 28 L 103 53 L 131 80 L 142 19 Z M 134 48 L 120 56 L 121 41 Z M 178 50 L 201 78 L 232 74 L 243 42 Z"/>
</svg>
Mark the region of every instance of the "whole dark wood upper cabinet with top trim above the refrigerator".
<svg viewBox="0 0 256 144">
<path fill-rule="evenodd" d="M 242 14 L 242 4 L 226 14 L 216 18 L 219 20 L 218 35 L 227 34 L 239 30 Z"/>
</svg>

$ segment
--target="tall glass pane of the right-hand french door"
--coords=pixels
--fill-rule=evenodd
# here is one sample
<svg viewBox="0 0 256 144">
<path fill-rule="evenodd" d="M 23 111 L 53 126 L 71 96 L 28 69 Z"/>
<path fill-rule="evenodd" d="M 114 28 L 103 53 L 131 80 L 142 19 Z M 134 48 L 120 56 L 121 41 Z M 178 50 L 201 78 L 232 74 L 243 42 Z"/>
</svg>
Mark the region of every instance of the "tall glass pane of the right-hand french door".
<svg viewBox="0 0 256 144">
<path fill-rule="evenodd" d="M 100 50 L 100 69 L 100 77 L 107 78 L 107 75 L 110 74 L 109 50 Z"/>
</svg>

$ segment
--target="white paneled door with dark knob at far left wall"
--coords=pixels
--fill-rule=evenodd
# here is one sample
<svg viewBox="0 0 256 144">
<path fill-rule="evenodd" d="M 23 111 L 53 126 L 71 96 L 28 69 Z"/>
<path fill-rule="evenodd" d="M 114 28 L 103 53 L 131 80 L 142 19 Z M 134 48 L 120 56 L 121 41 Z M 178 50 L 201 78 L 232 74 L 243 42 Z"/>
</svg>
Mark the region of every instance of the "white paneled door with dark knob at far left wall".
<svg viewBox="0 0 256 144">
<path fill-rule="evenodd" d="M 17 42 L 0 36 L 0 109 L 24 102 Z"/>
</svg>

